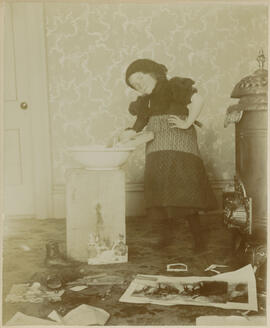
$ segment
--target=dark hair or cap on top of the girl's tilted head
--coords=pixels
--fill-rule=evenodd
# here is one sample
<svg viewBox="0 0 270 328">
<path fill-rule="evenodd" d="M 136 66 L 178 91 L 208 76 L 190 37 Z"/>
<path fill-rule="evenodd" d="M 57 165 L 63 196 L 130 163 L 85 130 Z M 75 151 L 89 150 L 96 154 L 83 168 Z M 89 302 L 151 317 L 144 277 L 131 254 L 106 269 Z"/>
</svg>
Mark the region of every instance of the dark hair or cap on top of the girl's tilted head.
<svg viewBox="0 0 270 328">
<path fill-rule="evenodd" d="M 146 74 L 151 74 L 157 80 L 166 79 L 166 73 L 168 69 L 162 64 L 158 64 L 151 59 L 137 59 L 132 62 L 126 70 L 126 83 L 129 87 L 134 87 L 129 82 L 129 77 L 137 72 L 142 72 Z"/>
</svg>

